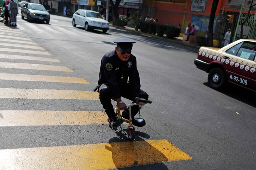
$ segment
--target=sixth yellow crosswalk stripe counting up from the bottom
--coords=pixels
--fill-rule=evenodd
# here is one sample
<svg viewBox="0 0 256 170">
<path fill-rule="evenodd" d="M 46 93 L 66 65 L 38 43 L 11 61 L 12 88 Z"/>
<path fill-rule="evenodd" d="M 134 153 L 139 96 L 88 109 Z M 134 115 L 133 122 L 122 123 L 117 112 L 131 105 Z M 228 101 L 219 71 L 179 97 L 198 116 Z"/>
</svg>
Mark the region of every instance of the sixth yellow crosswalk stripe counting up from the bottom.
<svg viewBox="0 0 256 170">
<path fill-rule="evenodd" d="M 10 55 L 10 54 L 1 54 L 0 58 L 2 58 L 2 59 L 18 59 L 18 60 L 36 60 L 36 61 L 60 63 L 60 61 L 58 59 L 51 59 L 51 58 L 45 58 L 45 57 L 19 56 L 19 55 Z"/>
</svg>

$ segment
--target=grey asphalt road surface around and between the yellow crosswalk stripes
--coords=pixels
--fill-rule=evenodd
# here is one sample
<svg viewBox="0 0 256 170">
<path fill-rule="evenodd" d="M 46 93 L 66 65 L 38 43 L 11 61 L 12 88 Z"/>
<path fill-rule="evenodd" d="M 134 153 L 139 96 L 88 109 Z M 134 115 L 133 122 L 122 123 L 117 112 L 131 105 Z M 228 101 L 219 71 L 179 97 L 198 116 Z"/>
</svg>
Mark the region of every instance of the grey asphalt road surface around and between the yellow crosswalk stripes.
<svg viewBox="0 0 256 170">
<path fill-rule="evenodd" d="M 74 72 L 0 67 L 0 73 L 77 77 L 84 78 L 90 84 L 0 80 L 0 88 L 92 91 L 98 81 L 102 56 L 115 48 L 113 40 L 128 37 L 137 41 L 132 54 L 137 57 L 141 88 L 153 102 L 142 108 L 147 125 L 136 127 L 135 140 L 168 140 L 192 159 L 162 160 L 163 163 L 134 164 L 129 168 L 123 165 L 118 169 L 255 169 L 255 93 L 230 84 L 222 91 L 210 88 L 207 73 L 194 65 L 197 50 L 114 27 L 110 27 L 106 34 L 100 30 L 86 32 L 83 27 L 73 27 L 71 18 L 55 15 L 51 15 L 50 24 L 28 23 L 20 15 L 17 22 L 17 29 L 12 29 L 11 33 L 1 32 L 4 24 L 0 23 L 1 43 L 11 43 L 2 39 L 12 40 L 13 37 L 29 38 L 51 54 L 50 58 L 58 59 L 61 63 L 3 58 L 0 58 L 0 62 L 65 66 Z M 15 30 L 24 35 L 16 34 Z M 26 49 L 16 46 L 23 43 L 12 44 L 1 45 L 1 48 Z M 31 56 L 1 48 L 1 55 Z M 45 57 L 41 54 L 32 56 Z M 128 100 L 124 101 L 129 103 Z M 0 110 L 104 111 L 99 100 L 30 99 L 4 95 L 1 96 Z M 129 141 L 124 135 L 125 131 L 114 131 L 104 123 L 4 126 L 1 125 L 1 121 L 5 123 L 4 116 L 0 114 L 0 117 L 0 151 Z M 36 119 L 29 121 L 31 124 L 37 122 Z M 118 152 L 129 153 L 129 150 L 120 149 Z M 138 152 L 138 155 L 143 157 L 143 153 Z M 116 162 L 114 164 L 117 166 Z M 8 167 L 15 169 L 14 166 Z"/>
</svg>

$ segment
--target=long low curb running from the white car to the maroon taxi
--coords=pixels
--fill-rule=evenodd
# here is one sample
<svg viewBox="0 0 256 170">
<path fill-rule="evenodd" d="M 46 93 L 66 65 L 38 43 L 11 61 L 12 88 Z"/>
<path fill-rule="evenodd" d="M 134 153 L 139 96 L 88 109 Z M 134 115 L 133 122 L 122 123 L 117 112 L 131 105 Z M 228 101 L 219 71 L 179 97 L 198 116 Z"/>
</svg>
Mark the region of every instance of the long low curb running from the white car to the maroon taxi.
<svg viewBox="0 0 256 170">
<path fill-rule="evenodd" d="M 113 24 L 109 24 L 109 26 L 119 28 L 119 29 L 123 29 L 123 30 L 126 30 L 126 31 L 131 31 L 131 32 L 134 32 L 134 33 L 137 33 L 137 34 L 140 34 L 140 35 L 152 36 L 152 37 L 155 37 L 155 38 L 158 38 L 158 39 L 168 40 L 168 41 L 171 41 L 173 43 L 178 43 L 178 44 L 181 44 L 181 45 L 184 45 L 184 46 L 195 48 L 197 50 L 199 50 L 200 47 L 201 47 L 201 46 L 197 46 L 197 45 L 193 45 L 193 44 L 183 43 L 180 40 L 172 40 L 172 39 L 168 39 L 168 38 L 165 38 L 165 37 L 159 37 L 157 35 L 153 35 L 153 34 L 149 34 L 149 33 L 143 33 L 143 32 L 140 32 L 140 31 L 136 31 L 135 29 L 128 29 L 128 28 L 125 28 L 125 27 L 119 27 L 119 26 L 115 26 Z"/>
</svg>

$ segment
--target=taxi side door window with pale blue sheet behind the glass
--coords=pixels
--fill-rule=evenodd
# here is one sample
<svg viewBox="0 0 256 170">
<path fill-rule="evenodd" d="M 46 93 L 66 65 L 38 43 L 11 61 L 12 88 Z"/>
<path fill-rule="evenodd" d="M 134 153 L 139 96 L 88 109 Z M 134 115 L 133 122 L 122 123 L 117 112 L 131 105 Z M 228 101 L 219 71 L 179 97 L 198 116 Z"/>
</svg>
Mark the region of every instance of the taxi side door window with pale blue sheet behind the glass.
<svg viewBox="0 0 256 170">
<path fill-rule="evenodd" d="M 237 56 L 254 61 L 256 53 L 256 43 L 244 42 L 244 44 L 239 49 Z"/>
</svg>

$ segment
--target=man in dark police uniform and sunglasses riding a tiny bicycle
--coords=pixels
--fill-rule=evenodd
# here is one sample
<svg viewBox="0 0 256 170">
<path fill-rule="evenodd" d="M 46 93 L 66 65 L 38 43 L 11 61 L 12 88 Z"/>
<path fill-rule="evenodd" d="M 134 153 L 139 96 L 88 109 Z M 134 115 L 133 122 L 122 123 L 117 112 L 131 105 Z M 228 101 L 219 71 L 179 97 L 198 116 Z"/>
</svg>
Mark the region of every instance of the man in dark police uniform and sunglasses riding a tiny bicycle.
<svg viewBox="0 0 256 170">
<path fill-rule="evenodd" d="M 136 41 L 130 38 L 117 38 L 114 43 L 116 43 L 115 50 L 106 53 L 101 59 L 98 81 L 99 99 L 112 128 L 118 127 L 122 120 L 115 116 L 111 99 L 116 101 L 119 109 L 124 109 L 122 117 L 129 119 L 129 109 L 121 100 L 121 96 L 137 103 L 140 98 L 146 100 L 149 98 L 148 94 L 140 89 L 136 57 L 131 54 Z M 146 124 L 145 120 L 134 118 L 139 109 L 139 105 L 132 106 L 133 125 L 142 127 Z"/>
</svg>

